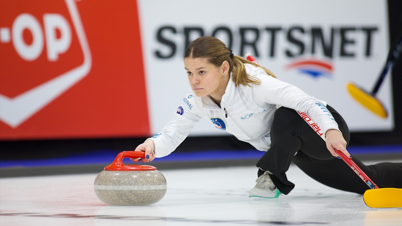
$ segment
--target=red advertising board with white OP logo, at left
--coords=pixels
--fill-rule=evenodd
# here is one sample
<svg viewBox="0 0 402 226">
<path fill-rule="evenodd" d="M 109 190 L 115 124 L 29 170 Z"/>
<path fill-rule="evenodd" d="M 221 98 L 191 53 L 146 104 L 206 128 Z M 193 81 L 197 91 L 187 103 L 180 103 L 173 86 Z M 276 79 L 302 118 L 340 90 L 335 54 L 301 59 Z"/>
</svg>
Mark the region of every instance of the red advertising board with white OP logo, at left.
<svg viewBox="0 0 402 226">
<path fill-rule="evenodd" d="M 136 1 L 0 4 L 0 140 L 150 134 Z"/>
</svg>

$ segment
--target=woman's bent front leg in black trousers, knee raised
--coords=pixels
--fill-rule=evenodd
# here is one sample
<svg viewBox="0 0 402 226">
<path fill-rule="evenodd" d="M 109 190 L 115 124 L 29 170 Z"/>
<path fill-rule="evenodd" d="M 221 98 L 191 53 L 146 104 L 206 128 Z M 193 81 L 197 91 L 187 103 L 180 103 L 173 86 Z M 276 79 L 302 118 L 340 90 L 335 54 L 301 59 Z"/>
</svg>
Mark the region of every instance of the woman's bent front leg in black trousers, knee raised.
<svg viewBox="0 0 402 226">
<path fill-rule="evenodd" d="M 349 143 L 349 129 L 346 122 L 332 107 L 327 107 L 338 123 L 345 140 Z M 271 127 L 271 148 L 256 164 L 258 168 L 262 169 L 258 171 L 258 176 L 262 175 L 264 171 L 269 171 L 272 173 L 271 180 L 279 191 L 288 194 L 295 185 L 287 180 L 285 173 L 296 152 L 304 152 L 316 160 L 339 161 L 330 154 L 324 140 L 295 110 L 281 107 L 275 112 Z"/>
</svg>

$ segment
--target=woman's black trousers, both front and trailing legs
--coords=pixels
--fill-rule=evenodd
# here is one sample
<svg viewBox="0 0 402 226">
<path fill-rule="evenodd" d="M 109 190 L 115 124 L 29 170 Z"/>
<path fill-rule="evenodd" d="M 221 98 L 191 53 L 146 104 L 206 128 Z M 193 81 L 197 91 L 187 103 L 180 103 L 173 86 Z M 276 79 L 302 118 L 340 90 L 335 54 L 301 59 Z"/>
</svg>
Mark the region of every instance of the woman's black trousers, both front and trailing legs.
<svg viewBox="0 0 402 226">
<path fill-rule="evenodd" d="M 349 144 L 350 134 L 345 120 L 332 107 L 327 108 Z M 366 166 L 356 157 L 352 160 L 378 187 L 402 188 L 402 163 L 383 162 Z M 271 148 L 257 166 L 272 173 L 273 183 L 285 195 L 295 187 L 285 174 L 291 161 L 304 173 L 329 187 L 359 194 L 370 189 L 343 160 L 331 155 L 324 140 L 295 110 L 281 107 L 275 112 L 271 127 Z M 258 177 L 264 171 L 259 170 Z"/>
</svg>

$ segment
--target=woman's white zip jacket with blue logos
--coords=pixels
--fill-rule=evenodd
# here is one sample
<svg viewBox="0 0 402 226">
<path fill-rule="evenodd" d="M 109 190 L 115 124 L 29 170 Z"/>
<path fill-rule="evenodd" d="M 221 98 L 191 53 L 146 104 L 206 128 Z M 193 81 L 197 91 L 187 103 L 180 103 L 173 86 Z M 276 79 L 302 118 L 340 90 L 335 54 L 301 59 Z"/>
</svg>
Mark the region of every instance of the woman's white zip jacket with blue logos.
<svg viewBox="0 0 402 226">
<path fill-rule="evenodd" d="M 154 141 L 157 158 L 172 153 L 200 119 L 208 119 L 217 129 L 250 143 L 257 150 L 267 151 L 271 146 L 273 116 L 281 106 L 307 113 L 323 134 L 328 129 L 340 131 L 326 108 L 326 102 L 267 75 L 261 68 L 250 64 L 245 64 L 245 67 L 247 74 L 258 78 L 261 84 L 235 87 L 231 79 L 222 97 L 221 108 L 209 96 L 197 97 L 189 89 L 170 122 L 159 134 L 147 139 Z"/>
</svg>

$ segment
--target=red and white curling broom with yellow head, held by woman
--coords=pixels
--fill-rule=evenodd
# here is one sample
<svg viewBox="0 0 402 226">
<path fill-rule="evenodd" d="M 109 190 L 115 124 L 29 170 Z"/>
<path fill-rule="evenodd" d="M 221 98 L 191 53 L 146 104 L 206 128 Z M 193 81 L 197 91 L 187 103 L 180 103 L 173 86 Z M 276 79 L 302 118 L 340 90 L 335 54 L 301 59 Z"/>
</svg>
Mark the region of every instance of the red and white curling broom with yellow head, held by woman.
<svg viewBox="0 0 402 226">
<path fill-rule="evenodd" d="M 258 64 L 250 53 L 246 53 L 244 58 Z M 324 134 L 320 133 L 320 128 L 313 119 L 306 113 L 297 111 L 297 113 L 316 131 L 316 133 L 325 141 Z M 336 154 L 346 162 L 346 164 L 370 187 L 366 190 L 363 199 L 367 206 L 371 208 L 399 208 L 402 207 L 402 189 L 401 188 L 379 188 L 350 158 L 341 151 L 336 150 Z"/>
</svg>

